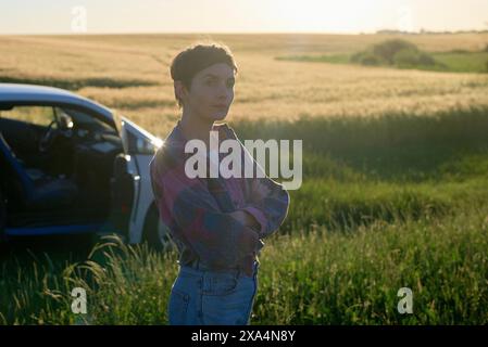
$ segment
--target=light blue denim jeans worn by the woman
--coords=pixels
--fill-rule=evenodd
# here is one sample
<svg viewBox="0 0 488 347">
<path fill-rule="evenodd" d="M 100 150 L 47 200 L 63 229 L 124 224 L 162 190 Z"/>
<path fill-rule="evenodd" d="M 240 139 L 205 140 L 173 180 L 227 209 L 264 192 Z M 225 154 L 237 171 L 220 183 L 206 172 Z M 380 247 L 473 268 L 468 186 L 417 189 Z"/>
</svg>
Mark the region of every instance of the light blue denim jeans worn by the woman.
<svg viewBox="0 0 488 347">
<path fill-rule="evenodd" d="M 258 290 L 259 262 L 252 277 L 240 270 L 179 268 L 173 284 L 171 325 L 247 325 Z"/>
</svg>

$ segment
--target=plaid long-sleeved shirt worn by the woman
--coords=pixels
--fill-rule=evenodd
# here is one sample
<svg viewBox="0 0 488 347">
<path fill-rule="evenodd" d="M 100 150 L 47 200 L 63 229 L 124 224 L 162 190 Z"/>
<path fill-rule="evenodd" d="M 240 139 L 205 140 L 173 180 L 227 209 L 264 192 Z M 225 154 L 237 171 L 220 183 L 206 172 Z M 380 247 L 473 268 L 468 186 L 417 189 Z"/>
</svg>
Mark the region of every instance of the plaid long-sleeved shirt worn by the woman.
<svg viewBox="0 0 488 347">
<path fill-rule="evenodd" d="M 214 125 L 218 141 L 238 140 L 227 125 Z M 214 269 L 241 268 L 252 273 L 264 246 L 262 239 L 271 235 L 285 220 L 289 195 L 281 184 L 264 178 L 188 178 L 185 162 L 186 139 L 180 121 L 164 141 L 150 163 L 151 182 L 159 213 L 179 249 L 179 264 L 199 260 Z M 245 160 L 261 170 L 242 143 L 241 168 Z M 224 155 L 220 154 L 222 158 Z M 263 171 L 262 171 L 263 172 Z M 246 210 L 261 226 L 251 229 L 228 214 Z"/>
</svg>

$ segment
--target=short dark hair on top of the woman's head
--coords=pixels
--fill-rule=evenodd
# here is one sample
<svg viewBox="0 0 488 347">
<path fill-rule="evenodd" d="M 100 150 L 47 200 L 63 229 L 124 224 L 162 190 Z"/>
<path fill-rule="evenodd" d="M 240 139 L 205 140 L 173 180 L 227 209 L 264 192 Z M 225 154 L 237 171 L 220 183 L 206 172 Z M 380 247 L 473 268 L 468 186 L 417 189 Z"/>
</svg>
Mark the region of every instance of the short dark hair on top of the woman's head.
<svg viewBox="0 0 488 347">
<path fill-rule="evenodd" d="M 191 80 L 202 69 L 213 64 L 225 63 L 237 73 L 237 65 L 230 49 L 217 42 L 195 43 L 179 52 L 171 64 L 171 78 L 179 80 L 190 90 Z M 175 95 L 178 105 L 182 100 Z"/>
</svg>

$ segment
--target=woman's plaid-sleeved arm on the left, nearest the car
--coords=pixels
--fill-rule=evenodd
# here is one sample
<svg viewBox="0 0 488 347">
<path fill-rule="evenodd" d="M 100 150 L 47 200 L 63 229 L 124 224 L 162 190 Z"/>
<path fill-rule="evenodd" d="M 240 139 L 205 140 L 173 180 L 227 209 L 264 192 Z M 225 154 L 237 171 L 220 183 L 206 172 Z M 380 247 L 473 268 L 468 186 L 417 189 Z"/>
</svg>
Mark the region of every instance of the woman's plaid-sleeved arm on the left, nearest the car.
<svg viewBox="0 0 488 347">
<path fill-rule="evenodd" d="M 151 162 L 160 215 L 178 226 L 200 259 L 212 267 L 232 267 L 259 252 L 263 243 L 258 233 L 232 214 L 222 213 L 205 184 L 189 179 L 184 162 L 168 149 L 163 151 Z"/>
</svg>

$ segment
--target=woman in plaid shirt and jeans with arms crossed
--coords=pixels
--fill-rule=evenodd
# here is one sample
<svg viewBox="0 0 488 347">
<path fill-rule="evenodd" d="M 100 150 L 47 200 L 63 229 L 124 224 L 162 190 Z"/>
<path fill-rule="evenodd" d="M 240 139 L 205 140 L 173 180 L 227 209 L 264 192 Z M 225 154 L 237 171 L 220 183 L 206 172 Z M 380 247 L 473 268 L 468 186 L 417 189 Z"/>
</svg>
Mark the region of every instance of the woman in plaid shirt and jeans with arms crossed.
<svg viewBox="0 0 488 347">
<path fill-rule="evenodd" d="M 208 149 L 210 131 L 216 131 L 218 142 L 238 141 L 227 125 L 215 124 L 234 100 L 236 74 L 230 51 L 216 43 L 189 47 L 171 66 L 182 118 L 150 164 L 160 216 L 179 250 L 170 324 L 248 324 L 262 239 L 278 229 L 288 211 L 288 193 L 266 176 L 189 178 L 185 171 L 192 155 L 185 153 L 187 141 L 201 140 Z M 242 163 L 262 170 L 238 144 Z"/>
</svg>

